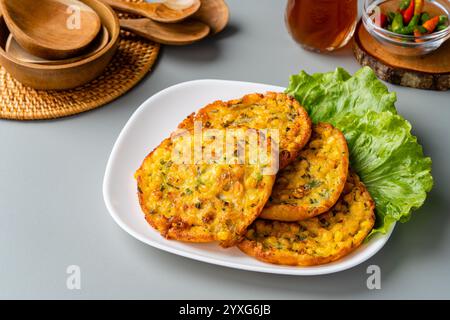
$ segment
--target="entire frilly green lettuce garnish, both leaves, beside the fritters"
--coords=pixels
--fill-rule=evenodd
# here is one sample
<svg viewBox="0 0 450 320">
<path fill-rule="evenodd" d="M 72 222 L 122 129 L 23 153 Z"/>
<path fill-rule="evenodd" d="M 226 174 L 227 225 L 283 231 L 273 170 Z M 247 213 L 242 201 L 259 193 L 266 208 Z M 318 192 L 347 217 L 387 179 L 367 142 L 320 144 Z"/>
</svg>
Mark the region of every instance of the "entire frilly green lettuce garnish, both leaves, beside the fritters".
<svg viewBox="0 0 450 320">
<path fill-rule="evenodd" d="M 371 235 L 386 233 L 423 205 L 433 186 L 431 159 L 423 154 L 411 125 L 395 109 L 396 95 L 368 67 L 353 76 L 334 72 L 291 77 L 286 92 L 308 111 L 312 121 L 328 122 L 347 138 L 350 162 L 376 203 Z"/>
</svg>

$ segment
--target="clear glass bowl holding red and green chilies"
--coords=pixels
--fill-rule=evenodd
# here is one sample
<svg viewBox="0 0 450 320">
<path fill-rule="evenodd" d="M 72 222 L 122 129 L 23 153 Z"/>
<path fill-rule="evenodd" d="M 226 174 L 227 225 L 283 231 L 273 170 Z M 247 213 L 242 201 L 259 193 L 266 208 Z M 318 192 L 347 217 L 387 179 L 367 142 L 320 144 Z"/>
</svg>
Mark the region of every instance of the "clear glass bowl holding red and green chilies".
<svg viewBox="0 0 450 320">
<path fill-rule="evenodd" d="M 439 48 L 450 38 L 450 27 L 431 34 L 415 37 L 412 35 L 401 35 L 381 28 L 375 24 L 375 15 L 383 6 L 398 4 L 400 0 L 365 0 L 362 13 L 364 27 L 369 34 L 383 45 L 383 48 L 400 56 L 421 56 Z M 425 0 L 426 6 L 436 6 L 450 18 L 450 1 L 448 0 Z M 415 40 L 418 40 L 417 42 Z"/>
</svg>

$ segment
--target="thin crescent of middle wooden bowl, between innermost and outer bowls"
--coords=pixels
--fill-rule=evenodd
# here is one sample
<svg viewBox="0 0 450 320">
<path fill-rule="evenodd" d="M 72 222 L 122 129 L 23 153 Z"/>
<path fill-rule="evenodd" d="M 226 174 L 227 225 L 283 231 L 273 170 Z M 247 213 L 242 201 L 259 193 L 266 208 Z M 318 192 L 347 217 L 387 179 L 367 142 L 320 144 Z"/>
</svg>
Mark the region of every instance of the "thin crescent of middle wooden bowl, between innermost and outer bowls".
<svg viewBox="0 0 450 320">
<path fill-rule="evenodd" d="M 16 39 L 14 39 L 12 34 L 9 34 L 8 40 L 6 41 L 5 45 L 5 51 L 6 53 L 19 61 L 25 62 L 25 63 L 35 63 L 35 64 L 42 64 L 42 65 L 62 65 L 62 64 L 69 64 L 73 62 L 77 62 L 80 60 L 83 60 L 84 58 L 87 58 L 89 56 L 92 56 L 93 54 L 99 52 L 101 49 L 103 49 L 109 42 L 109 33 L 108 29 L 106 27 L 102 27 L 102 30 L 100 31 L 100 34 L 97 36 L 97 38 L 92 42 L 92 44 L 87 49 L 87 52 L 84 54 L 70 58 L 70 59 L 63 59 L 63 60 L 46 60 L 37 56 L 32 55 L 28 51 L 26 51 L 24 48 L 20 46 L 19 43 L 17 43 Z"/>
</svg>

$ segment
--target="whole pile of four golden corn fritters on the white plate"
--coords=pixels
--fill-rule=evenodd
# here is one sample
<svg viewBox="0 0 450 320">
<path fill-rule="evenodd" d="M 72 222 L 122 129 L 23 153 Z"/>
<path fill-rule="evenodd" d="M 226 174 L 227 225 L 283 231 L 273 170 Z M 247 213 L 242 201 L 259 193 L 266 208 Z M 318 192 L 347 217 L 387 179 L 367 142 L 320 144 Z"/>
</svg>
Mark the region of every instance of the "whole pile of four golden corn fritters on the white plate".
<svg viewBox="0 0 450 320">
<path fill-rule="evenodd" d="M 199 150 L 197 123 L 200 150 L 213 159 L 199 161 L 190 154 L 187 161 L 177 161 L 174 155 Z M 269 92 L 216 101 L 178 129 L 184 132 L 182 143 L 180 132 L 174 133 L 135 174 L 145 218 L 167 239 L 219 241 L 261 261 L 310 266 L 345 256 L 372 230 L 375 205 L 349 172 L 345 137 L 329 124 L 313 128 L 294 98 Z M 259 159 L 268 161 L 250 161 L 255 140 L 246 134 L 231 152 L 219 152 L 216 143 L 223 136 L 216 134 L 230 129 L 269 129 L 256 138 L 264 146 Z"/>
</svg>

